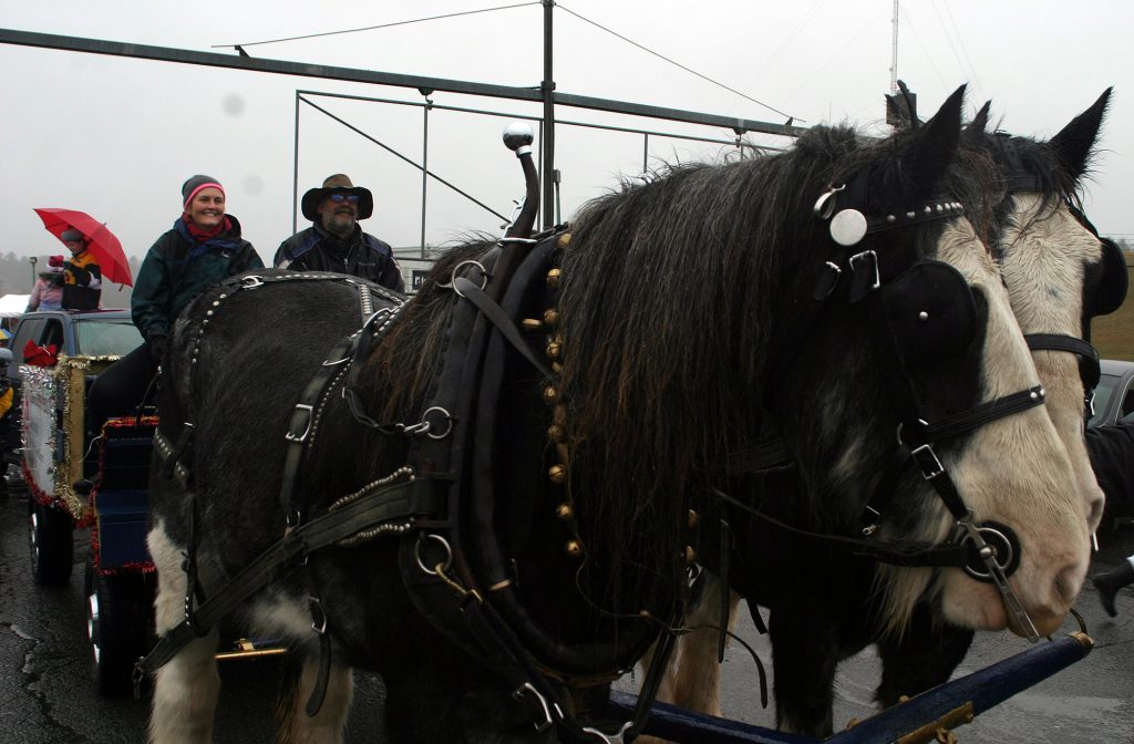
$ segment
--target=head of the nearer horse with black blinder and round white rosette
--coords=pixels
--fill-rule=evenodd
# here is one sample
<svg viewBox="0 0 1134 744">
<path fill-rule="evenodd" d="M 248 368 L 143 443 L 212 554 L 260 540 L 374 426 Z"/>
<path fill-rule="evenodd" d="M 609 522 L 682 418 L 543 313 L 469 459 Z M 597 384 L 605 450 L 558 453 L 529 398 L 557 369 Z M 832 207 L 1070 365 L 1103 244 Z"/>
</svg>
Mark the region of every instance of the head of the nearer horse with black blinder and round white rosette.
<svg viewBox="0 0 1134 744">
<path fill-rule="evenodd" d="M 932 141 L 948 142 L 948 133 L 938 133 L 945 130 L 946 120 L 951 129 L 956 98 L 924 127 L 877 145 L 887 155 L 872 164 L 866 192 L 877 204 L 886 205 L 878 219 L 900 226 L 905 214 L 923 209 L 905 211 L 899 206 L 904 194 L 957 193 L 950 176 L 939 175 L 936 180 L 922 176 L 921 183 L 929 186 L 920 192 L 908 184 L 919 178 L 919 163 L 932 162 L 924 154 L 931 152 Z M 812 529 L 852 532 L 869 522 L 877 527 L 871 540 L 948 542 L 956 539 L 958 524 L 965 523 L 959 518 L 962 509 L 931 488 L 938 472 L 948 471 L 964 509 L 972 511 L 976 523 L 1015 533 L 1007 541 L 1010 548 L 997 550 L 1001 557 L 1010 550 L 1019 560 L 1010 580 L 1018 597 L 1010 602 L 1005 599 L 1018 607 L 1006 610 L 992 585 L 974 581 L 989 576 L 973 567 L 883 566 L 878 576 L 887 597 L 885 624 L 902 627 L 917 599 L 929 591 L 940 600 L 945 617 L 958 625 L 1012 626 L 1029 635 L 1049 632 L 1061 622 L 1082 584 L 1089 534 L 1081 490 L 1069 475 L 1069 456 L 1051 417 L 1042 407 L 1033 407 L 980 424 L 942 423 L 972 418 L 972 412 L 1000 407 L 1000 401 L 1025 391 L 1042 396 L 998 267 L 966 219 L 897 227 L 874 238 L 881 245 L 871 245 L 872 237 L 868 235 L 852 251 L 862 255 L 873 250 L 882 267 L 894 262 L 879 289 L 883 299 L 875 304 L 881 310 L 872 311 L 875 319 L 885 318 L 889 332 L 882 336 L 888 338 L 879 344 L 879 335 L 870 330 L 877 320 L 856 307 L 861 303 L 855 302 L 852 265 L 849 294 L 840 294 L 844 290 L 837 285 L 830 295 L 848 304 L 830 313 L 837 313 L 837 319 L 816 322 L 805 343 L 796 341 L 803 349 L 790 373 L 779 375 L 785 383 L 772 390 L 771 411 L 811 498 Z M 903 252 L 907 257 L 885 257 Z M 847 264 L 845 256 L 828 260 Z M 937 262 L 958 271 L 964 278 L 960 284 L 967 286 L 955 284 Z M 803 290 L 809 280 L 819 286 L 814 270 L 797 268 L 807 279 L 795 291 Z M 831 349 L 838 349 L 838 374 L 831 370 Z M 866 373 L 880 357 L 882 373 Z M 887 367 L 887 357 L 900 360 L 899 372 Z M 818 396 L 816 390 L 821 391 Z M 914 409 L 920 413 L 912 414 Z M 909 437 L 919 429 L 924 436 Z M 899 448 L 892 443 L 895 432 Z M 917 453 L 926 443 L 939 465 L 912 467 L 898 455 Z M 874 511 L 882 514 L 864 519 L 863 514 Z M 1051 546 L 1060 548 L 1051 550 Z M 1030 622 L 1024 614 L 1031 616 Z"/>
</svg>

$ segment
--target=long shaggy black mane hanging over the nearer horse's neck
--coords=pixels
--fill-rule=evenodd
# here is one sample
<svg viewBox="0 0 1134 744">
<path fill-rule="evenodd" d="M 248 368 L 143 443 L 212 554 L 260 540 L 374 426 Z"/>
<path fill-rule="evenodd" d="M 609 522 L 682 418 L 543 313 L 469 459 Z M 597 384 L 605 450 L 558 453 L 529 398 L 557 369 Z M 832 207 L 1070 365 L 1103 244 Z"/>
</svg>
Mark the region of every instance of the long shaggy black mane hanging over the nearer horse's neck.
<svg viewBox="0 0 1134 744">
<path fill-rule="evenodd" d="M 686 509 L 760 432 L 782 315 L 810 296 L 816 251 L 838 247 L 814 200 L 905 136 L 814 127 L 787 152 L 671 167 L 579 212 L 558 388 L 584 541 L 640 566 L 682 550 Z M 881 172 L 879 198 L 909 193 L 900 168 Z"/>
</svg>

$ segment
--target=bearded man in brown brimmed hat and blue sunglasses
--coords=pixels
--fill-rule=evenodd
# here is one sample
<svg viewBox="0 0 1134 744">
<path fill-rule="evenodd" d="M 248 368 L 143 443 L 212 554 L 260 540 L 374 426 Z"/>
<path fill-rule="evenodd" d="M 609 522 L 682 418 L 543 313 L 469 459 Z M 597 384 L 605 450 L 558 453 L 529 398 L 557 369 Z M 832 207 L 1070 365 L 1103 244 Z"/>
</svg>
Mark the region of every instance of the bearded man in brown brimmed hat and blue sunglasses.
<svg viewBox="0 0 1134 744">
<path fill-rule="evenodd" d="M 337 271 L 403 291 L 401 270 L 387 243 L 362 231 L 358 220 L 374 213 L 370 189 L 336 174 L 301 202 L 312 226 L 280 244 L 273 263 L 295 271 Z"/>
</svg>

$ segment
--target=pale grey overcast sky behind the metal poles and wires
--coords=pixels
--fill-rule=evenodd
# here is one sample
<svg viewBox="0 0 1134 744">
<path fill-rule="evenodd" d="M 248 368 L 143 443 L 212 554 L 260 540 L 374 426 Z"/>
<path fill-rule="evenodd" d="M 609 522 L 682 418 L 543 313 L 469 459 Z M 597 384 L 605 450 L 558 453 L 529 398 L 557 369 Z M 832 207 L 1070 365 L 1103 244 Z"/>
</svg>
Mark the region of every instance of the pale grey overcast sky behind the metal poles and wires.
<svg viewBox="0 0 1134 744">
<path fill-rule="evenodd" d="M 517 0 L 518 1 L 518 0 Z M 229 0 L 0 0 L 0 27 L 195 51 L 215 44 L 376 26 L 508 5 L 465 0 L 321 2 Z M 1074 15 L 1072 15 L 1074 11 Z M 850 121 L 880 132 L 889 92 L 890 0 L 568 0 L 555 11 L 555 79 L 565 93 L 782 124 L 775 110 L 716 86 L 623 41 L 603 26 L 796 124 Z M 581 18 L 582 17 L 582 18 Z M 248 45 L 254 57 L 513 86 L 542 77 L 539 3 L 354 34 Z M 584 20 L 585 19 L 585 20 Z M 1015 134 L 1050 136 L 1108 86 L 1115 95 L 1086 192 L 1105 234 L 1134 238 L 1134 3 L 1111 0 L 903 0 L 898 77 L 928 116 L 968 83 L 966 112 L 985 99 Z M 590 23 L 589 23 L 590 22 Z M 598 25 L 595 25 L 598 24 Z M 225 184 L 229 212 L 270 261 L 293 222 L 296 90 L 421 102 L 416 90 L 329 83 L 168 62 L 0 44 L 0 251 L 44 256 L 61 246 L 35 206 L 90 212 L 142 256 L 180 213 L 180 185 L 204 172 Z M 539 116 L 538 105 L 435 93 L 435 104 Z M 321 98 L 320 105 L 421 161 L 422 111 Z M 347 172 L 375 196 L 364 229 L 395 246 L 418 245 L 422 179 L 412 167 L 310 107 L 299 115 L 301 193 Z M 649 119 L 603 122 L 731 140 L 731 132 Z M 429 164 L 497 212 L 523 194 L 500 144 L 508 117 L 434 111 Z M 727 157 L 722 144 L 560 127 L 562 213 L 661 162 Z M 786 144 L 776 138 L 754 141 Z M 807 198 L 811 198 L 810 196 Z M 501 220 L 443 187 L 429 187 L 426 243 Z M 303 220 L 299 218 L 301 227 Z"/>
</svg>

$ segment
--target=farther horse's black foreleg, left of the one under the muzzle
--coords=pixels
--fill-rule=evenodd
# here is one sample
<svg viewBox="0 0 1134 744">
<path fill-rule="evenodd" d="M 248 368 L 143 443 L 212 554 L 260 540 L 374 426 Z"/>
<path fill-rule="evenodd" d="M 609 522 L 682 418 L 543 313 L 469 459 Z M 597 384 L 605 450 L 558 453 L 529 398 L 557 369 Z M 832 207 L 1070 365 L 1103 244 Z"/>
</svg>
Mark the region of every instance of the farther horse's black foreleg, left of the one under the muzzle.
<svg viewBox="0 0 1134 744">
<path fill-rule="evenodd" d="M 826 738 L 832 732 L 836 631 L 811 609 L 772 610 L 772 688 L 780 730 Z"/>
</svg>

